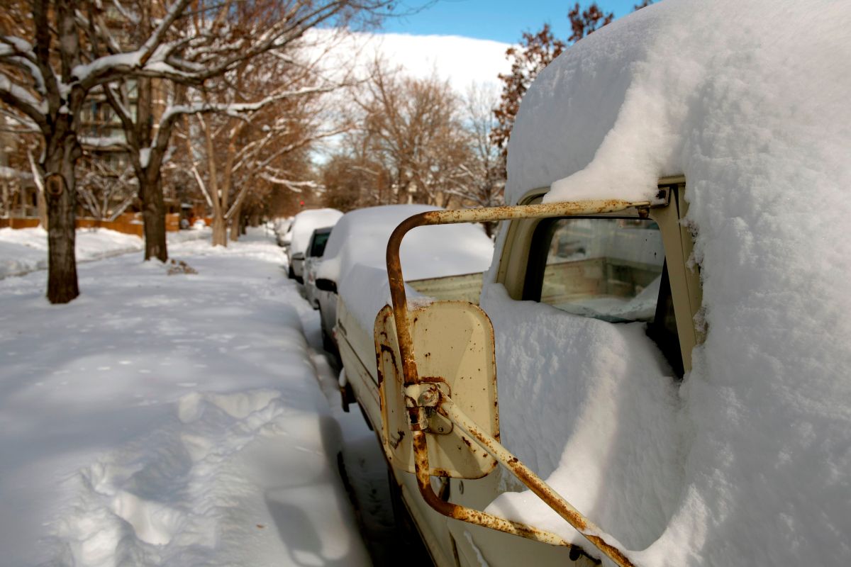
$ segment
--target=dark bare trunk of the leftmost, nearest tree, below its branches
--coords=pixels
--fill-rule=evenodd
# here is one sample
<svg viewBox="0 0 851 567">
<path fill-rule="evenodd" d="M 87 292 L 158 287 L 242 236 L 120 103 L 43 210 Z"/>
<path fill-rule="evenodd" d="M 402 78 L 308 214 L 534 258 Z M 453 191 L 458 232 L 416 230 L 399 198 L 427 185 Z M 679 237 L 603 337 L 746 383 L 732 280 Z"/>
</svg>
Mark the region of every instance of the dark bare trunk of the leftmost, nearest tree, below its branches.
<svg viewBox="0 0 851 567">
<path fill-rule="evenodd" d="M 78 146 L 64 140 L 46 156 L 45 197 L 48 223 L 48 301 L 68 303 L 80 295 L 75 255 L 77 185 L 74 162 Z M 51 144 L 49 144 L 51 146 Z"/>
</svg>

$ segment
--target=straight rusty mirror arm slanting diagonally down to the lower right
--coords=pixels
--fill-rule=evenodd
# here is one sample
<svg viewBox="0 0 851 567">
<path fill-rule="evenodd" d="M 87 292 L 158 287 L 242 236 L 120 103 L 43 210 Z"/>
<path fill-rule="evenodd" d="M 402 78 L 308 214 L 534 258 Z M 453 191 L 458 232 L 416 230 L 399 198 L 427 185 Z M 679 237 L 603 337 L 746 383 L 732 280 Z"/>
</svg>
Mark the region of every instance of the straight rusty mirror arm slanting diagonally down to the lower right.
<svg viewBox="0 0 851 567">
<path fill-rule="evenodd" d="M 600 534 L 605 535 L 605 532 L 597 527 L 590 519 L 585 518 L 579 510 L 574 508 L 570 502 L 566 501 L 556 490 L 553 490 L 550 485 L 547 485 L 544 480 L 535 474 L 530 468 L 523 464 L 517 456 L 511 454 L 505 449 L 499 441 L 484 433 L 478 428 L 475 422 L 466 416 L 464 411 L 461 411 L 458 405 L 448 396 L 441 395 L 440 402 L 437 405 L 437 411 L 446 417 L 449 421 L 460 427 L 465 434 L 468 434 L 477 442 L 485 451 L 488 451 L 497 461 L 505 468 L 511 471 L 514 476 L 519 479 L 523 485 L 526 485 L 529 490 L 532 490 L 547 506 L 555 510 L 559 516 L 568 521 L 568 524 L 585 536 L 585 539 L 590 541 L 594 547 L 597 547 L 608 558 L 614 561 L 619 567 L 633 567 L 631 561 L 626 558 L 625 554 L 617 547 L 607 543 Z M 425 434 L 422 434 L 425 442 Z M 415 440 L 416 438 L 414 438 Z M 414 447 L 416 445 L 414 444 Z M 427 456 L 426 456 L 427 458 Z M 426 471 L 428 468 L 426 468 Z M 417 469 L 417 478 L 420 478 L 419 468 Z M 429 483 L 431 488 L 431 483 Z M 420 490 L 422 490 L 420 488 Z"/>
</svg>

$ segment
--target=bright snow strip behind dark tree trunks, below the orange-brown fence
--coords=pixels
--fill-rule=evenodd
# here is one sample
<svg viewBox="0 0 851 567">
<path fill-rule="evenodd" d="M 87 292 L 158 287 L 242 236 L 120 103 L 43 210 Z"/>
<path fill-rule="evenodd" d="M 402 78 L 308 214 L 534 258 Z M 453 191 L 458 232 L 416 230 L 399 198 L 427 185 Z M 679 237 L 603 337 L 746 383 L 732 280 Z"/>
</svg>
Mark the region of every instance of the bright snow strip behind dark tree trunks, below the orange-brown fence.
<svg viewBox="0 0 851 567">
<path fill-rule="evenodd" d="M 167 233 L 168 244 L 208 237 L 208 229 Z M 134 235 L 108 229 L 79 229 L 75 241 L 77 262 L 138 252 L 145 242 Z M 48 267 L 48 233 L 42 228 L 0 229 L 0 279 Z"/>
</svg>

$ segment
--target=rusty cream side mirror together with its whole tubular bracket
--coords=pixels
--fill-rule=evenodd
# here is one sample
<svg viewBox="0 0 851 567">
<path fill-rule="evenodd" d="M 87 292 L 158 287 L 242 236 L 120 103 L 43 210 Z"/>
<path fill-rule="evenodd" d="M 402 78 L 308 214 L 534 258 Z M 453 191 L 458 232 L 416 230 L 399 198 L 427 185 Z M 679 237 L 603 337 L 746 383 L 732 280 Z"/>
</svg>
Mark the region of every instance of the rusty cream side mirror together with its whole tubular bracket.
<svg viewBox="0 0 851 567">
<path fill-rule="evenodd" d="M 605 532 L 591 519 L 500 444 L 494 330 L 488 315 L 466 302 L 409 305 L 399 258 L 404 235 L 433 224 L 585 216 L 627 208 L 648 214 L 650 207 L 667 206 L 668 199 L 669 191 L 660 184 L 653 201 L 573 201 L 428 211 L 404 220 L 393 231 L 387 242 L 387 280 L 393 306 L 381 309 L 374 327 L 381 438 L 387 458 L 395 467 L 416 475 L 420 495 L 438 513 L 535 541 L 574 547 L 551 532 L 447 502 L 431 486 L 431 476 L 481 478 L 499 461 L 614 564 L 634 565 L 617 541 L 614 545 L 606 541 Z M 574 551 L 585 553 L 575 548 L 571 556 Z"/>
</svg>

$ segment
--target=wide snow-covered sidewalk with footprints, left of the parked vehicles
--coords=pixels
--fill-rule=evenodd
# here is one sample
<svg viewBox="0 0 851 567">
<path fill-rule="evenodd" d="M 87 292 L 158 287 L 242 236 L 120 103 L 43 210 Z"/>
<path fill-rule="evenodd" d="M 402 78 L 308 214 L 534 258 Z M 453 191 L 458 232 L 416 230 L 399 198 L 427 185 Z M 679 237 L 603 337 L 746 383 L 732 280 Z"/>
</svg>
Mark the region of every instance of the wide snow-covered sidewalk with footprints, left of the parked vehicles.
<svg viewBox="0 0 851 567">
<path fill-rule="evenodd" d="M 260 231 L 0 281 L 3 565 L 358 565 L 316 314 Z"/>
</svg>

